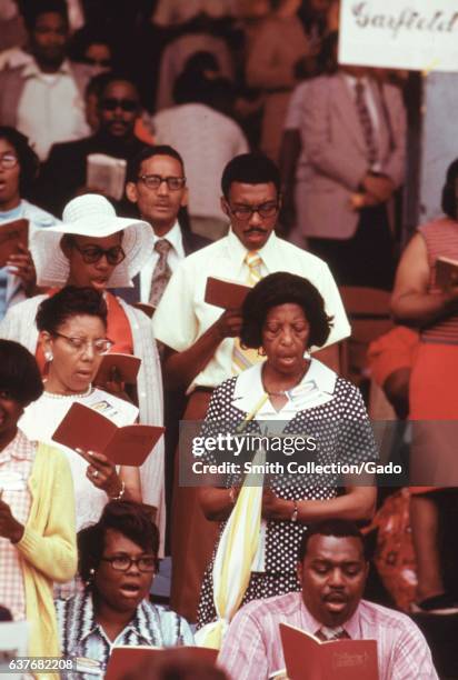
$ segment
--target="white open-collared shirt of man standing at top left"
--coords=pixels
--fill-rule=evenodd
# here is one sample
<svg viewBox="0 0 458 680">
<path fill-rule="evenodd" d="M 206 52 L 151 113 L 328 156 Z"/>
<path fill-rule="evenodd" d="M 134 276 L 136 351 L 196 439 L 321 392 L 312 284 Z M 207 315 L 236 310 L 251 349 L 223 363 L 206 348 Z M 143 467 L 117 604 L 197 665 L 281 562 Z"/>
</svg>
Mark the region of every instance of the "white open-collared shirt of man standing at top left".
<svg viewBox="0 0 458 680">
<path fill-rule="evenodd" d="M 30 139 L 41 161 L 52 144 L 90 133 L 84 103 L 64 61 L 57 73 L 43 73 L 33 60 L 22 71 L 24 88 L 18 107 L 18 130 Z"/>
</svg>

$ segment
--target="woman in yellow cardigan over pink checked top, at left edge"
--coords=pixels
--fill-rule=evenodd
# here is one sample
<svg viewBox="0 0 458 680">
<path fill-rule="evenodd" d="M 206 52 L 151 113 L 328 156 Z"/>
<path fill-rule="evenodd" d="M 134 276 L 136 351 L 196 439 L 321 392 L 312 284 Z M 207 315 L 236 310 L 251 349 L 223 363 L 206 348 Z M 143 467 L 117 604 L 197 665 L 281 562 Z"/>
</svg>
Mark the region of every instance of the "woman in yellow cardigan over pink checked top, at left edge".
<svg viewBox="0 0 458 680">
<path fill-rule="evenodd" d="M 63 454 L 18 429 L 42 392 L 34 358 L 0 340 L 0 604 L 30 623 L 29 654 L 59 654 L 54 581 L 77 569 L 72 480 Z"/>
</svg>

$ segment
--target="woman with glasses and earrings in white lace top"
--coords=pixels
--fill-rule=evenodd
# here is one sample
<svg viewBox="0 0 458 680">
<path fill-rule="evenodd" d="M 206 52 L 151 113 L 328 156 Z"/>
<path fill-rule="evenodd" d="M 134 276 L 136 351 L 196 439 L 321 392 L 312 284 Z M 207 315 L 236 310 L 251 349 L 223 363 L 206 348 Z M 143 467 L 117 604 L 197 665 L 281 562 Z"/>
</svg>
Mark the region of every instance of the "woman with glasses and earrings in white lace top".
<svg viewBox="0 0 458 680">
<path fill-rule="evenodd" d="M 21 419 L 29 439 L 56 446 L 52 434 L 76 402 L 101 412 L 117 426 L 136 421 L 137 407 L 92 387 L 101 358 L 112 346 L 107 338 L 107 306 L 100 292 L 63 288 L 41 302 L 37 328 L 47 379 L 43 394 Z M 141 501 L 138 468 L 123 466 L 117 470 L 101 453 L 61 448 L 73 476 L 77 530 L 96 522 L 110 498 Z"/>
</svg>

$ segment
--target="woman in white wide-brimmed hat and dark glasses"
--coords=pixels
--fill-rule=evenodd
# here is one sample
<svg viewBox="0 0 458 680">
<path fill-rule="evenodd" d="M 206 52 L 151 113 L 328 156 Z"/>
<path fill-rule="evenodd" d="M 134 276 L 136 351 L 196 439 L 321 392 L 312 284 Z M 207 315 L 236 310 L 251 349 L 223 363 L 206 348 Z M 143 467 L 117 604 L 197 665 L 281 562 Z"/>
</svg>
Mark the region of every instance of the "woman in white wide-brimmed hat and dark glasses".
<svg viewBox="0 0 458 680">
<path fill-rule="evenodd" d="M 109 288 L 131 287 L 153 250 L 147 222 L 117 217 L 111 203 L 98 194 L 70 201 L 62 223 L 33 234 L 30 250 L 38 286 L 49 287 L 47 296 L 64 286 L 92 287 L 104 292 L 108 307 L 107 336 L 111 351 L 141 359 L 137 378 L 139 420 L 162 423 L 162 383 L 151 320 L 138 309 L 110 293 Z M 36 316 L 46 296 L 36 296 L 10 308 L 0 323 L 0 337 L 16 340 L 36 354 L 44 372 L 46 359 L 38 344 Z M 160 441 L 140 469 L 142 500 L 157 508 L 156 521 L 163 540 L 163 443 Z"/>
</svg>

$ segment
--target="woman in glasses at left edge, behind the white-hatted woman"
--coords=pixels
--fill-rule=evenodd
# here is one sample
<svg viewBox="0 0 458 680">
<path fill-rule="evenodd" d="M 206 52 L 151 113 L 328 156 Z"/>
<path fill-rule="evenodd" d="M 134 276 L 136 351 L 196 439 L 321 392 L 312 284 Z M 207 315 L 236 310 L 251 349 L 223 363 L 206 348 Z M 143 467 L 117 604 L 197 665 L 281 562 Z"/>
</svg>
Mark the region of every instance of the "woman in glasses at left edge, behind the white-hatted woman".
<svg viewBox="0 0 458 680">
<path fill-rule="evenodd" d="M 24 200 L 38 171 L 38 157 L 27 137 L 14 128 L 0 127 L 0 224 L 29 220 L 29 236 L 41 227 L 57 223 L 56 218 Z M 34 293 L 36 273 L 27 242 L 18 248 L 6 267 L 0 268 L 0 319 L 10 304 Z"/>
</svg>

